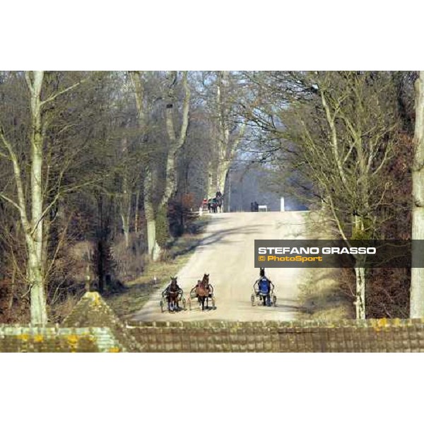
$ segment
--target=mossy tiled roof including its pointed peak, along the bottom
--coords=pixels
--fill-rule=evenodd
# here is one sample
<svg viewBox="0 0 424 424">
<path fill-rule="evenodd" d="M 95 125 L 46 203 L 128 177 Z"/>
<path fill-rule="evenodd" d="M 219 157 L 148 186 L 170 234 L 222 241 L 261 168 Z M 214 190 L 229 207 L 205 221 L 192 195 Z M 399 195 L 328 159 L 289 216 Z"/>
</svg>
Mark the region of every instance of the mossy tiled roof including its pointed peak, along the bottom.
<svg viewBox="0 0 424 424">
<path fill-rule="evenodd" d="M 424 352 L 424 319 L 122 322 L 86 293 L 59 326 L 0 326 L 0 352 Z"/>
</svg>

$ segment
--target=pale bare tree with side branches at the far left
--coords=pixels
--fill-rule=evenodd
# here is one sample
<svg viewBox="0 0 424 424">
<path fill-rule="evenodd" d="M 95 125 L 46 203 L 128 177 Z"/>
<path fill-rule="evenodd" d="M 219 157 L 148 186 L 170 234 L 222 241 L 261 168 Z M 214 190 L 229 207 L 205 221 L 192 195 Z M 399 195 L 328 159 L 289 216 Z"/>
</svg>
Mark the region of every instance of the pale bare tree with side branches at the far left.
<svg viewBox="0 0 424 424">
<path fill-rule="evenodd" d="M 16 184 L 16 199 L 11 199 L 6 194 L 0 196 L 13 204 L 18 209 L 20 222 L 25 232 L 25 242 L 28 254 L 28 283 L 30 285 L 31 298 L 31 322 L 33 324 L 47 323 L 47 302 L 45 294 L 45 216 L 59 198 L 54 196 L 52 201 L 46 204 L 45 178 L 43 165 L 46 163 L 45 134 L 48 122 L 43 119 L 43 109 L 54 101 L 58 96 L 72 90 L 79 85 L 75 83 L 66 88 L 56 90 L 45 98 L 42 98 L 42 88 L 45 79 L 43 71 L 25 72 L 25 82 L 29 93 L 30 110 L 30 194 L 25 194 L 25 181 L 21 162 L 16 148 L 13 146 L 8 131 L 0 126 L 0 139 L 4 146 L 4 157 L 11 161 L 13 167 L 14 182 Z M 29 205 L 29 208 L 27 206 Z M 28 210 L 29 209 L 29 210 Z M 43 242 L 44 241 L 44 242 Z"/>
</svg>

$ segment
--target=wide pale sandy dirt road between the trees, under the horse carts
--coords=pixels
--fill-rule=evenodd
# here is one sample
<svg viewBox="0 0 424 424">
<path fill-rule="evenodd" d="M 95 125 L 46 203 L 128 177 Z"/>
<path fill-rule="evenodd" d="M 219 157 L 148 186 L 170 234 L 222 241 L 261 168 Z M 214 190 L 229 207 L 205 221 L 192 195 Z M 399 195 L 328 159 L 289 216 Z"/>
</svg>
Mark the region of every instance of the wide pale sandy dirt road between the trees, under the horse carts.
<svg viewBox="0 0 424 424">
<path fill-rule="evenodd" d="M 298 312 L 298 290 L 305 283 L 306 269 L 268 269 L 275 285 L 276 307 L 254 306 L 250 302 L 252 285 L 259 276 L 254 268 L 255 239 L 304 239 L 305 220 L 309 212 L 216 213 L 204 233 L 201 245 L 179 271 L 178 283 L 187 296 L 204 273 L 210 273 L 210 282 L 216 293 L 216 310 L 202 312 L 198 303 L 194 310 L 177 313 L 160 312 L 161 290 L 155 293 L 134 319 L 140 321 L 198 321 L 219 319 L 230 321 L 262 321 L 295 319 Z"/>
</svg>

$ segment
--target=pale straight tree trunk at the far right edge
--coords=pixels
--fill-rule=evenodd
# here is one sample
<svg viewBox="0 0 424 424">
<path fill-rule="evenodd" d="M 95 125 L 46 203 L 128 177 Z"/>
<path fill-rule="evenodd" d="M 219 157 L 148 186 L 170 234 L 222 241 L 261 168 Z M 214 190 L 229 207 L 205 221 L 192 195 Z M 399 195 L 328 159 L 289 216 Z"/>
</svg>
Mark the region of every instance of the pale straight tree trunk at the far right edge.
<svg viewBox="0 0 424 424">
<path fill-rule="evenodd" d="M 424 240 L 424 71 L 420 71 L 416 89 L 416 148 L 412 169 L 412 239 Z M 413 264 L 423 256 L 419 246 L 413 245 Z M 424 268 L 411 269 L 410 317 L 424 317 Z"/>
</svg>

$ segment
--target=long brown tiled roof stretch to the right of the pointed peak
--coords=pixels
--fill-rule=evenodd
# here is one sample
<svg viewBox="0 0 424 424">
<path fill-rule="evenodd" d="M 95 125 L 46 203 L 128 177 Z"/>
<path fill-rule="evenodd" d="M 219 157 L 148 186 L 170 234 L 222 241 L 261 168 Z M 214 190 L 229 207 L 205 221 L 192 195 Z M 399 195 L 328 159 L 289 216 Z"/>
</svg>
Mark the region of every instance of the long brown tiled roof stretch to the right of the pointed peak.
<svg viewBox="0 0 424 424">
<path fill-rule="evenodd" d="M 130 323 L 146 352 L 424 352 L 424 319 Z"/>
</svg>

